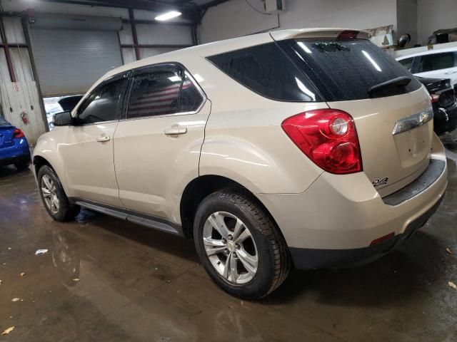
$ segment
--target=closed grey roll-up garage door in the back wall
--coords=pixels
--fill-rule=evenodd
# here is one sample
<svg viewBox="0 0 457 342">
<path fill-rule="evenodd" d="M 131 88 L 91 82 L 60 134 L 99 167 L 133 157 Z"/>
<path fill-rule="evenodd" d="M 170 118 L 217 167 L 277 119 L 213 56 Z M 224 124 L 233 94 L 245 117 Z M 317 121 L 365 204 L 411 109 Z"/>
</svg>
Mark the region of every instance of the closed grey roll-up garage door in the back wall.
<svg viewBox="0 0 457 342">
<path fill-rule="evenodd" d="M 52 18 L 40 20 L 38 17 L 30 28 L 43 96 L 86 93 L 104 73 L 122 65 L 118 35 L 122 25 L 120 19 L 106 23 L 104 18 L 104 26 L 96 17 Z M 113 20 L 114 23 L 119 20 L 119 25 L 113 25 Z"/>
</svg>

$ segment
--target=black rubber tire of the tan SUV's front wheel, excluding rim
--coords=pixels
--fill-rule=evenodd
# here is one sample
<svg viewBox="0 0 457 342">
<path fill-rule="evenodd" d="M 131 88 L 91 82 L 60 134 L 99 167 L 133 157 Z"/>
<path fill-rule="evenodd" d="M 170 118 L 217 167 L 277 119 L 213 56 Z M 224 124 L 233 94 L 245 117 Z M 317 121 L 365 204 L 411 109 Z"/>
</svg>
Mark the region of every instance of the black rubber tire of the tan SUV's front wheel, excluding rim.
<svg viewBox="0 0 457 342">
<path fill-rule="evenodd" d="M 43 190 L 41 190 L 41 180 L 45 175 L 49 177 L 49 179 L 55 185 L 55 195 L 59 199 L 59 209 L 56 212 L 52 212 L 51 208 L 48 206 L 48 204 L 46 204 L 46 201 L 44 200 Z M 59 222 L 67 222 L 74 219 L 76 214 L 79 212 L 79 206 L 69 202 L 69 199 L 65 195 L 64 188 L 62 187 L 56 172 L 54 172 L 54 170 L 52 170 L 52 168 L 48 165 L 44 165 L 38 171 L 36 179 L 38 180 L 38 191 L 40 193 L 41 202 L 43 202 L 49 216 Z"/>
</svg>

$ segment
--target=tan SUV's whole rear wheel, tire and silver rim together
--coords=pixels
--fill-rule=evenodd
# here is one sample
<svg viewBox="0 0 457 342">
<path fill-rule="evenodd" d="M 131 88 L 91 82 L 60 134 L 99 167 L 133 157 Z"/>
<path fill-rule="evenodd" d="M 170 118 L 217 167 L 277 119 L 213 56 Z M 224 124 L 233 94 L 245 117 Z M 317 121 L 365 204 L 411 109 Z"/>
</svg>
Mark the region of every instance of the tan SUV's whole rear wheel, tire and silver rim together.
<svg viewBox="0 0 457 342">
<path fill-rule="evenodd" d="M 199 205 L 194 242 L 211 279 L 229 294 L 260 299 L 278 288 L 291 266 L 273 219 L 248 192 L 214 192 Z"/>
</svg>

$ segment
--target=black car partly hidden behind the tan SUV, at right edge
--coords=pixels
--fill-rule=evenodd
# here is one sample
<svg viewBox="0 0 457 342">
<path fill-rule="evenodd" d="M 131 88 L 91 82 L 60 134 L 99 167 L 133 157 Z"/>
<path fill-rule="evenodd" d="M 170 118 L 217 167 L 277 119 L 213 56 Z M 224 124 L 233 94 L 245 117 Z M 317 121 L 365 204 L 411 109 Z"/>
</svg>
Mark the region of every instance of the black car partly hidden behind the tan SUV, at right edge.
<svg viewBox="0 0 457 342">
<path fill-rule="evenodd" d="M 452 132 L 457 127 L 456 90 L 448 78 L 417 78 L 431 96 L 433 107 L 433 130 L 438 135 Z"/>
</svg>

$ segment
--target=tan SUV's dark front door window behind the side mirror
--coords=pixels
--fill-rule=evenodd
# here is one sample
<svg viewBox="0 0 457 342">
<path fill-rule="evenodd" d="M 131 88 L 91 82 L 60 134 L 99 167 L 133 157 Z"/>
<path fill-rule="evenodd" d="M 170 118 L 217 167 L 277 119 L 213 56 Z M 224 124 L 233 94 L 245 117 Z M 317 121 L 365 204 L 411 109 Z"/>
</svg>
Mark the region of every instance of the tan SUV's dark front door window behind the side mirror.
<svg viewBox="0 0 457 342">
<path fill-rule="evenodd" d="M 122 78 L 94 90 L 78 109 L 78 124 L 119 120 L 128 80 Z"/>
</svg>

